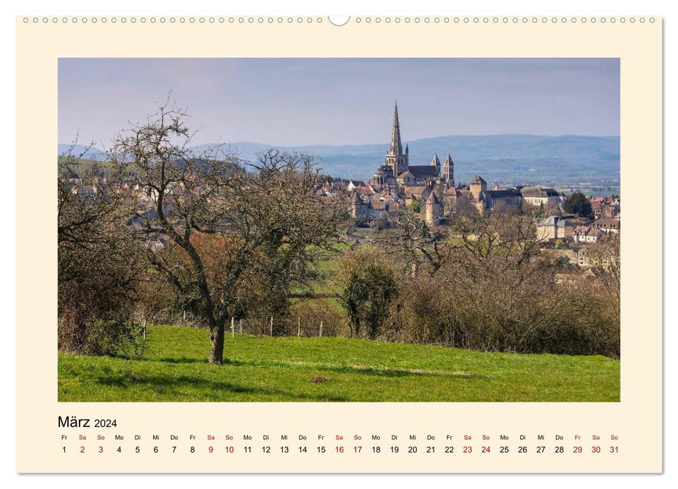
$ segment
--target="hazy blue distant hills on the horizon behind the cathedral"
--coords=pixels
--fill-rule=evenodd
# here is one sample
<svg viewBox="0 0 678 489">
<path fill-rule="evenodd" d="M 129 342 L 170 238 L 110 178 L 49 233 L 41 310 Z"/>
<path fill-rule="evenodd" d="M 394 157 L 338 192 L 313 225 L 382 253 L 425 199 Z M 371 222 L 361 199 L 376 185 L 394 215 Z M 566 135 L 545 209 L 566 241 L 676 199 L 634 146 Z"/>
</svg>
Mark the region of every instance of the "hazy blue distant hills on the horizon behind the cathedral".
<svg viewBox="0 0 678 489">
<path fill-rule="evenodd" d="M 533 136 L 498 134 L 492 136 L 439 136 L 408 142 L 410 163 L 427 165 L 434 154 L 448 153 L 455 162 L 457 183 L 469 182 L 476 173 L 489 184 L 565 184 L 610 182 L 620 175 L 619 136 Z M 193 147 L 196 152 L 210 145 Z M 59 145 L 63 150 L 67 145 Z M 253 160 L 268 146 L 262 143 L 229 143 L 226 152 L 237 152 Z M 80 150 L 85 149 L 80 147 Z M 369 180 L 383 163 L 388 143 L 374 145 L 281 147 L 318 156 L 325 173 L 336 177 Z M 105 159 L 98 149 L 85 156 Z"/>
</svg>

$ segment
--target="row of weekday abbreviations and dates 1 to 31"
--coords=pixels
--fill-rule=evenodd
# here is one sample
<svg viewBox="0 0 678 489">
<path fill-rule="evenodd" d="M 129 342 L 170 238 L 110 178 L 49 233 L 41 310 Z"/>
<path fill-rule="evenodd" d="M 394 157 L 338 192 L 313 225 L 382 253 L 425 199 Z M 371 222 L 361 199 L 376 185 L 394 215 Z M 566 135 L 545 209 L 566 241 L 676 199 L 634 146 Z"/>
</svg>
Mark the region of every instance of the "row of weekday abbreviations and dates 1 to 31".
<svg viewBox="0 0 678 489">
<path fill-rule="evenodd" d="M 218 457 L 494 457 L 547 455 L 564 457 L 619 453 L 614 433 L 575 435 L 440 434 L 73 434 L 60 435 L 64 455 L 159 455 L 184 453 Z"/>
</svg>

